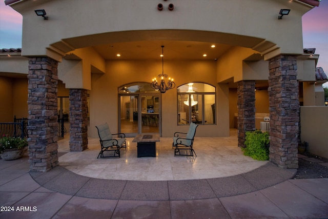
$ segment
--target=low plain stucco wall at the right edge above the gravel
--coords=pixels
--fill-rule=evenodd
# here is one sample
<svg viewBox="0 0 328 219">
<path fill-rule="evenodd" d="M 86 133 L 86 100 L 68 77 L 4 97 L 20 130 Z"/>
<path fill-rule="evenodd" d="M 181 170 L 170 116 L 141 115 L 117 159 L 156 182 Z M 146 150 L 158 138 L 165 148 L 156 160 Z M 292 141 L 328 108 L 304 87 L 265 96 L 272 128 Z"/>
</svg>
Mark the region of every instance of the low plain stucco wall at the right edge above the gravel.
<svg viewBox="0 0 328 219">
<path fill-rule="evenodd" d="M 308 142 L 308 151 L 328 158 L 328 107 L 301 107 L 301 142 Z"/>
</svg>

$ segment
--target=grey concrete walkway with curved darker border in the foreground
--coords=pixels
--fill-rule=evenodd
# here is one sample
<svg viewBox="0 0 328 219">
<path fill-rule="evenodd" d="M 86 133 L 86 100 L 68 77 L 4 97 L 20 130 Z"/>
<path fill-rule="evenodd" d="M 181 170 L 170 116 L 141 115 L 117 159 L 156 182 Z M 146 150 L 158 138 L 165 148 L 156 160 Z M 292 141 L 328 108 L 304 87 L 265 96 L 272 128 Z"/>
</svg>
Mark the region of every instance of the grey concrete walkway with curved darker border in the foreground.
<svg viewBox="0 0 328 219">
<path fill-rule="evenodd" d="M 0 160 L 0 218 L 328 218 L 328 179 L 271 163 L 230 177 L 103 180 Z M 10 211 L 9 211 L 10 210 Z"/>
</svg>

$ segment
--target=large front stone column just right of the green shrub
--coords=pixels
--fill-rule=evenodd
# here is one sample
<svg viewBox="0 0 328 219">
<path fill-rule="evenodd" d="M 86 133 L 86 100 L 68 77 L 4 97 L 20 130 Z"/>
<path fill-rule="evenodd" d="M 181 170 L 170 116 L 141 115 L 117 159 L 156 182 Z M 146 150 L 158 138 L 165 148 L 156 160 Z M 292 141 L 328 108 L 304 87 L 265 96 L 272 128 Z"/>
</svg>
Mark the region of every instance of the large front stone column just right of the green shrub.
<svg viewBox="0 0 328 219">
<path fill-rule="evenodd" d="M 270 161 L 298 168 L 300 107 L 296 56 L 279 55 L 269 63 Z"/>
</svg>

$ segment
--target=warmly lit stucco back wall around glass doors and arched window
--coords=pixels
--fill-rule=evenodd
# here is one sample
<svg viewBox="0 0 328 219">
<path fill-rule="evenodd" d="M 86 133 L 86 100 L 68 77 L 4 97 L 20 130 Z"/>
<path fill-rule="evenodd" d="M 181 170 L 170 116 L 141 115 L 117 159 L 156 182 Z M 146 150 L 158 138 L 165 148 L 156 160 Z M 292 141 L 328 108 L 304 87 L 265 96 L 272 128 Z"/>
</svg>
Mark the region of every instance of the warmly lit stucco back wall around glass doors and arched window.
<svg viewBox="0 0 328 219">
<path fill-rule="evenodd" d="M 216 87 L 217 125 L 197 128 L 198 136 L 229 136 L 229 88 L 215 83 L 215 61 L 165 61 L 164 72 L 174 78 L 176 87 L 203 82 Z M 133 82 L 150 82 L 161 73 L 159 61 L 107 61 L 105 74 L 92 74 L 90 90 L 90 137 L 97 137 L 96 125 L 107 122 L 113 132 L 118 127 L 117 88 Z M 171 137 L 175 131 L 188 131 L 177 126 L 177 90 L 162 94 L 162 136 Z"/>
</svg>

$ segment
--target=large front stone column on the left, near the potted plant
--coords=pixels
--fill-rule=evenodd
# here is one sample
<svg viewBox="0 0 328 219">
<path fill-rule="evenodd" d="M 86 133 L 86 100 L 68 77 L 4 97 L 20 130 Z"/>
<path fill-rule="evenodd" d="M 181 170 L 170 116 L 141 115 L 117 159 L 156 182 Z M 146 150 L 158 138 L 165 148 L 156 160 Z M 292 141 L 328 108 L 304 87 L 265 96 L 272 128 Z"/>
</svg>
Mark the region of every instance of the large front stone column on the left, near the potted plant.
<svg viewBox="0 0 328 219">
<path fill-rule="evenodd" d="M 57 65 L 49 57 L 30 57 L 28 72 L 28 144 L 31 171 L 58 165 Z"/>
</svg>

